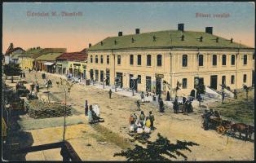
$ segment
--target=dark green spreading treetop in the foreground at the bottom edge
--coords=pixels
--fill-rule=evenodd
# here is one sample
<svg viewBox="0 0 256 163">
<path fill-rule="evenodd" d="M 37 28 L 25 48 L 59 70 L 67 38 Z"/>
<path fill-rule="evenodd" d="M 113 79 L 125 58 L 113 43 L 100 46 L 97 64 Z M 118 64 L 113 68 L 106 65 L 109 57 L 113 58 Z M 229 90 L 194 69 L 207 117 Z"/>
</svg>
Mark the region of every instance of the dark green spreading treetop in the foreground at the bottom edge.
<svg viewBox="0 0 256 163">
<path fill-rule="evenodd" d="M 157 134 L 156 141 L 148 141 L 147 148 L 143 148 L 139 145 L 135 145 L 134 149 L 128 148 L 126 151 L 115 153 L 114 156 L 126 156 L 127 161 L 171 161 L 172 158 L 177 159 L 178 156 L 182 156 L 185 160 L 188 159 L 179 150 L 188 150 L 192 152 L 188 146 L 198 146 L 197 143 L 179 141 L 177 143 L 170 143 L 170 140 Z M 165 156 L 163 156 L 165 155 Z"/>
</svg>

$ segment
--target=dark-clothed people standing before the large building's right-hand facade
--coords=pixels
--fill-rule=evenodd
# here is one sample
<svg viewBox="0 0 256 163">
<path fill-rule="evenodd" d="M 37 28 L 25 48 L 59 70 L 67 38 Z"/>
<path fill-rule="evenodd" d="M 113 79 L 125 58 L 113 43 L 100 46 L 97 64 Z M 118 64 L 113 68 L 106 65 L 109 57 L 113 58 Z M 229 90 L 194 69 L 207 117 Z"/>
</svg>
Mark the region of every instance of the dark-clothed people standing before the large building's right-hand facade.
<svg viewBox="0 0 256 163">
<path fill-rule="evenodd" d="M 173 103 L 174 113 L 179 113 L 179 103 L 178 98 L 174 99 Z M 186 97 L 183 97 L 183 114 L 188 115 L 188 113 L 193 112 L 192 101 L 188 100 Z"/>
</svg>

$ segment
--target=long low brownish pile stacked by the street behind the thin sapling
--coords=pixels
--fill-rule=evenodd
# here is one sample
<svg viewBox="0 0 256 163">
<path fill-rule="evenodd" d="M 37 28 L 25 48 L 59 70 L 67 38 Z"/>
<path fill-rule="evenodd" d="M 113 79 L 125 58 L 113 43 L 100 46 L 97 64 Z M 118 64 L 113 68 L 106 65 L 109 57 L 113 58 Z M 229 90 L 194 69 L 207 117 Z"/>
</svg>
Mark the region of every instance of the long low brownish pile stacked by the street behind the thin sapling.
<svg viewBox="0 0 256 163">
<path fill-rule="evenodd" d="M 29 117 L 33 118 L 47 118 L 47 117 L 63 117 L 64 104 L 58 103 L 45 103 L 41 100 L 34 99 L 28 101 L 26 109 L 29 112 Z M 71 107 L 67 106 L 66 116 L 71 115 Z"/>
</svg>

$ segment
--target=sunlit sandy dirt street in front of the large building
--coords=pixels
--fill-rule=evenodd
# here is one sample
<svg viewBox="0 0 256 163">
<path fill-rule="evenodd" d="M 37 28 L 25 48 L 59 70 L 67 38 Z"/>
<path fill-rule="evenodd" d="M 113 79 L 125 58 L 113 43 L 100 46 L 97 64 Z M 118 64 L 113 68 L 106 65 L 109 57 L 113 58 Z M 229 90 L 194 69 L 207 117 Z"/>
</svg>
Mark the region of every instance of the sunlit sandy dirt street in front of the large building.
<svg viewBox="0 0 256 163">
<path fill-rule="evenodd" d="M 34 79 L 32 73 L 26 73 L 26 76 L 28 80 Z M 60 87 L 55 85 L 55 81 L 58 80 L 58 78 L 49 77 L 52 78 L 53 81 L 53 87 L 50 89 L 51 92 L 58 98 L 64 99 L 64 93 L 60 91 Z M 42 83 L 40 73 L 38 73 L 38 81 Z M 111 130 L 113 133 L 120 136 L 120 138 L 130 139 L 130 136 L 127 134 L 129 127 L 128 118 L 133 112 L 139 115 L 139 111 L 136 111 L 135 99 L 117 95 L 115 93 L 113 93 L 113 99 L 108 99 L 108 91 L 99 90 L 92 86 L 80 86 L 77 84 L 73 86 L 71 93 L 68 96 L 68 104 L 72 104 L 73 108 L 83 116 L 83 105 L 86 99 L 89 104 L 99 104 L 100 117 L 105 119 L 104 123 L 100 123 L 101 126 Z M 166 110 L 166 112 L 160 113 L 158 112 L 156 105 L 149 103 L 142 104 L 141 109 L 146 115 L 148 115 L 149 111 L 152 111 L 155 115 L 155 126 L 157 127 L 157 130 L 152 132 L 151 140 L 157 138 L 157 133 L 161 133 L 173 143 L 176 140 L 187 140 L 199 144 L 199 146 L 191 148 L 192 152 L 184 152 L 188 156 L 188 161 L 254 160 L 254 143 L 217 134 L 214 130 L 203 130 L 201 128 L 201 112 L 203 112 L 203 110 L 199 108 L 195 108 L 194 112 L 188 116 L 174 114 L 172 110 Z M 113 141 L 109 141 L 110 144 L 113 144 L 113 148 L 107 149 L 102 148 L 102 146 L 93 146 L 96 151 L 99 150 L 98 152 L 91 152 L 90 149 L 87 149 L 84 139 L 82 139 L 83 127 L 86 127 L 91 131 L 94 130 L 87 124 L 73 125 L 68 126 L 67 134 L 81 134 L 81 137 L 75 136 L 73 139 L 70 139 L 70 143 L 74 145 L 75 150 L 78 151 L 78 155 L 84 160 L 124 159 L 121 157 L 113 157 L 113 152 L 118 152 L 118 150 L 121 149 L 120 147 L 118 148 L 118 144 L 113 143 Z M 41 130 L 50 130 L 50 128 Z M 39 131 L 31 130 L 31 132 Z M 100 131 L 94 130 L 94 132 L 99 133 Z M 51 132 L 49 135 L 51 135 Z M 108 142 L 108 139 L 105 139 L 105 141 Z M 117 140 L 117 142 L 118 141 L 119 140 Z M 81 145 L 81 143 L 83 145 Z M 88 152 L 84 152 L 85 150 Z"/>
</svg>

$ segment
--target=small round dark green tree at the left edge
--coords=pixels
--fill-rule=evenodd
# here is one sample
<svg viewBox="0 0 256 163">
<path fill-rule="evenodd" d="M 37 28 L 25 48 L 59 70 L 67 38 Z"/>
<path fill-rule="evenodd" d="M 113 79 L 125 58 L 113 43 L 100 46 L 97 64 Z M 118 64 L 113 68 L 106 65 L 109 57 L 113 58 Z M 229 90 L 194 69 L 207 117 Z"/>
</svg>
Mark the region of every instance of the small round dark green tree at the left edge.
<svg viewBox="0 0 256 163">
<path fill-rule="evenodd" d="M 11 82 L 13 83 L 13 76 L 19 76 L 22 70 L 19 64 L 5 64 L 3 66 L 3 73 L 6 76 L 11 76 Z"/>
</svg>

